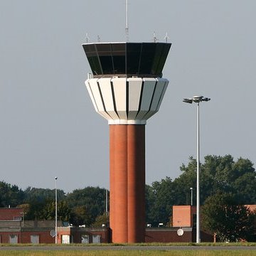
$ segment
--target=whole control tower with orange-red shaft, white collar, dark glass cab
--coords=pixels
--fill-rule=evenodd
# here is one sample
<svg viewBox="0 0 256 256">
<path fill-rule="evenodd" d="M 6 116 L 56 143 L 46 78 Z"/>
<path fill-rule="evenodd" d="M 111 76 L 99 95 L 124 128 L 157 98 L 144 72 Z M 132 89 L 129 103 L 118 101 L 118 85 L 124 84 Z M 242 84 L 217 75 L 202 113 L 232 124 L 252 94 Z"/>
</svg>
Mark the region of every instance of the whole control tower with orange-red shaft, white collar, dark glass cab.
<svg viewBox="0 0 256 256">
<path fill-rule="evenodd" d="M 158 112 L 169 80 L 171 43 L 85 43 L 92 74 L 85 85 L 110 125 L 112 242 L 145 240 L 145 124 Z"/>
</svg>

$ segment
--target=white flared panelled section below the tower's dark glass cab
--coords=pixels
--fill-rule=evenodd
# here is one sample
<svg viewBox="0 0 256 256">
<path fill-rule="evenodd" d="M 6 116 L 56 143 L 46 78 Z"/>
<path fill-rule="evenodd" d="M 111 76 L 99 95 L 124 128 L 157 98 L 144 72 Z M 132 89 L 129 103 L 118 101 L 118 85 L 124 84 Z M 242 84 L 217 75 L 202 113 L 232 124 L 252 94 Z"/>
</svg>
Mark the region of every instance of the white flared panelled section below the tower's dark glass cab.
<svg viewBox="0 0 256 256">
<path fill-rule="evenodd" d="M 85 84 L 96 112 L 109 124 L 146 124 L 158 112 L 169 80 L 91 78 Z"/>
</svg>

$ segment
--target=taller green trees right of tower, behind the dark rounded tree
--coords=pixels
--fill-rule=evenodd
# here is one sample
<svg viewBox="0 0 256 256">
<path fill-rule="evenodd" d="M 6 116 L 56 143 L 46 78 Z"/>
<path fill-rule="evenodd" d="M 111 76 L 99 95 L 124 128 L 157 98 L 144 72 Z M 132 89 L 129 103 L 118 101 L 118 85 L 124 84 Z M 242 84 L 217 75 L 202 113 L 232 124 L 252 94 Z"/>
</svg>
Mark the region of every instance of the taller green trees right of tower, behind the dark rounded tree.
<svg viewBox="0 0 256 256">
<path fill-rule="evenodd" d="M 146 222 L 152 225 L 167 223 L 172 206 L 189 205 L 191 188 L 196 191 L 196 159 L 189 158 L 188 164 L 180 167 L 182 174 L 175 178 L 166 177 L 146 186 Z M 256 172 L 248 159 L 234 161 L 230 155 L 205 156 L 200 164 L 200 201 L 218 193 L 230 193 L 236 204 L 256 203 Z M 196 193 L 193 193 L 196 203 Z"/>
</svg>

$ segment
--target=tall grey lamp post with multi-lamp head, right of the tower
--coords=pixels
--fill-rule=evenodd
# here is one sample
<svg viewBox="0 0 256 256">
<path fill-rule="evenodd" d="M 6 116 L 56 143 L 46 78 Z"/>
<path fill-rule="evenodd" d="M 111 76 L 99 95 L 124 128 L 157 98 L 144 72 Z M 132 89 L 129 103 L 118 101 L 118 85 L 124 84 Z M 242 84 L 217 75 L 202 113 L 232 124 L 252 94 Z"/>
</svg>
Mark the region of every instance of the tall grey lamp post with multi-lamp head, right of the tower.
<svg viewBox="0 0 256 256">
<path fill-rule="evenodd" d="M 208 102 L 210 98 L 203 96 L 193 96 L 192 98 L 183 99 L 183 102 L 197 104 L 197 144 L 196 144 L 196 243 L 200 242 L 200 188 L 199 188 L 199 172 L 200 172 L 200 146 L 199 146 L 199 104 L 200 102 Z"/>
</svg>

